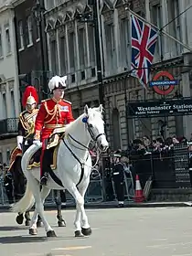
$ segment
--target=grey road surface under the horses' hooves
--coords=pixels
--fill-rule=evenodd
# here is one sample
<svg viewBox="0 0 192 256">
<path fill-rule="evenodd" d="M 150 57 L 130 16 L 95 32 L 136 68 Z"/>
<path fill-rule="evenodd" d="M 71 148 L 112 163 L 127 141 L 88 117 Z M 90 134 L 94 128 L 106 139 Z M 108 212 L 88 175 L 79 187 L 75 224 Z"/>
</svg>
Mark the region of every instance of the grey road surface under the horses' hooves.
<svg viewBox="0 0 192 256">
<path fill-rule="evenodd" d="M 45 229 L 29 236 L 15 223 L 15 214 L 0 218 L 1 256 L 192 256 L 192 208 L 88 209 L 92 234 L 73 235 L 74 210 L 64 212 L 66 228 L 56 226 L 56 211 L 46 216 L 58 237 L 47 239 Z"/>
</svg>

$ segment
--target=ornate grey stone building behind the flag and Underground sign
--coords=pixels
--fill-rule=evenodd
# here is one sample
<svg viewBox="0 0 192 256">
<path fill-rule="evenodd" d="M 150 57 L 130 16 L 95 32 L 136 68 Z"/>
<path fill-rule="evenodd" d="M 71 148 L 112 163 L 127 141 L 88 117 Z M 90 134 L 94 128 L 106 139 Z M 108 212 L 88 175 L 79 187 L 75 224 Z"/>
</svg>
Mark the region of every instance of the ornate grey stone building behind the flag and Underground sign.
<svg viewBox="0 0 192 256">
<path fill-rule="evenodd" d="M 102 76 L 106 131 L 112 148 L 126 148 L 133 138 L 160 135 L 160 124 L 166 122 L 165 136 L 190 137 L 190 116 L 160 118 L 129 118 L 126 106 L 129 101 L 160 100 L 153 89 L 144 88 L 131 77 L 131 22 L 130 12 L 123 0 L 98 2 L 101 39 Z M 133 0 L 127 1 L 134 13 L 143 16 L 157 27 L 164 27 L 172 37 L 192 48 L 190 27 L 192 8 L 178 16 L 190 5 L 189 0 Z M 67 97 L 72 101 L 74 115 L 78 116 L 84 104 L 97 104 L 99 91 L 94 44 L 94 27 L 91 22 L 80 22 L 80 14 L 91 12 L 87 1 L 45 0 L 46 32 L 48 33 L 49 69 L 54 74 L 69 76 Z M 170 37 L 158 37 L 151 79 L 158 70 L 173 74 L 179 85 L 166 98 L 177 95 L 191 96 L 191 54 Z"/>
</svg>

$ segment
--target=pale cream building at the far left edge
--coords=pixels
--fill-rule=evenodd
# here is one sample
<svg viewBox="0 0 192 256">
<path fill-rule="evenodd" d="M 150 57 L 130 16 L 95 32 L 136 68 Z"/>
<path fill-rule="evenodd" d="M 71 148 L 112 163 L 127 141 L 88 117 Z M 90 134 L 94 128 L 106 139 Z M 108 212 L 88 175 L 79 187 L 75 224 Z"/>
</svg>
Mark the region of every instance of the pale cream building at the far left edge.
<svg viewBox="0 0 192 256">
<path fill-rule="evenodd" d="M 16 146 L 16 118 L 20 112 L 12 2 L 0 0 L 0 162 L 6 164 Z"/>
</svg>

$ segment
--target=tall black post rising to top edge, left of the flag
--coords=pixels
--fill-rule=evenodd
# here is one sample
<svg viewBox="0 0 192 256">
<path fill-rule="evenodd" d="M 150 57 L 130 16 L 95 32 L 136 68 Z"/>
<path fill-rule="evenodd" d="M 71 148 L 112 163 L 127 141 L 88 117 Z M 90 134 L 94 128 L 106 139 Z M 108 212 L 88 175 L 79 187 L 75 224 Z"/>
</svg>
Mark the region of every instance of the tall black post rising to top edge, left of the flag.
<svg viewBox="0 0 192 256">
<path fill-rule="evenodd" d="M 78 16 L 76 16 L 76 18 L 80 22 L 92 23 L 94 26 L 97 80 L 99 82 L 99 101 L 100 101 L 100 104 L 104 105 L 103 81 L 102 81 L 102 70 L 101 70 L 101 44 L 100 44 L 100 32 L 99 32 L 99 23 L 98 23 L 97 0 L 88 0 L 88 5 L 92 5 L 92 12 L 79 14 Z"/>
</svg>

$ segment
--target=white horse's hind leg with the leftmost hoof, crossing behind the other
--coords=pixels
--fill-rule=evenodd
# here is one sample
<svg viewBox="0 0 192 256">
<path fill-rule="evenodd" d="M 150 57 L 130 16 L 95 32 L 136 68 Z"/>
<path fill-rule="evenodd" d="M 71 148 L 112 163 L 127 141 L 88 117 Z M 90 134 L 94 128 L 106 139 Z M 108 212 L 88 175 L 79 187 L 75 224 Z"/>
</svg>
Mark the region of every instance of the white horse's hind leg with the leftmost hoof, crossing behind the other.
<svg viewBox="0 0 192 256">
<path fill-rule="evenodd" d="M 50 192 L 50 189 L 48 187 L 42 187 L 42 190 L 40 192 L 41 194 L 41 201 L 44 204 L 46 197 L 48 197 L 48 194 Z M 29 234 L 31 235 L 36 235 L 37 234 L 37 208 L 35 208 L 33 217 L 31 219 L 31 224 L 30 224 L 30 228 L 29 228 Z"/>
</svg>

